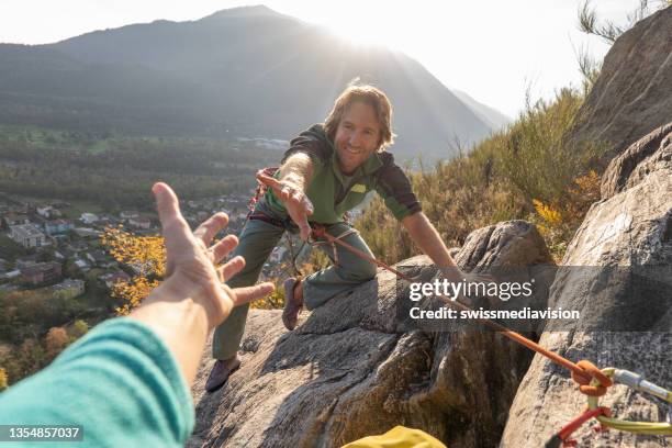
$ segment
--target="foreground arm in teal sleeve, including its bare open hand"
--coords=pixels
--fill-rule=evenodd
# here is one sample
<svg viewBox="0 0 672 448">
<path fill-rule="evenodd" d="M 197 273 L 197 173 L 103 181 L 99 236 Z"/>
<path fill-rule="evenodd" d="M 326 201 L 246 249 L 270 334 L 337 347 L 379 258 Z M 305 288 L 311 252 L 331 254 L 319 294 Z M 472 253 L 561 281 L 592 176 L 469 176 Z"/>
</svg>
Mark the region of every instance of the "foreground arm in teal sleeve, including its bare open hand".
<svg viewBox="0 0 672 448">
<path fill-rule="evenodd" d="M 0 422 L 80 425 L 86 446 L 184 445 L 194 425 L 189 387 L 209 331 L 273 285 L 228 288 L 223 281 L 245 261 L 215 265 L 237 238 L 210 245 L 226 215 L 215 214 L 192 233 L 172 190 L 157 183 L 153 191 L 167 279 L 128 318 L 97 326 L 42 372 L 2 392 Z"/>
</svg>

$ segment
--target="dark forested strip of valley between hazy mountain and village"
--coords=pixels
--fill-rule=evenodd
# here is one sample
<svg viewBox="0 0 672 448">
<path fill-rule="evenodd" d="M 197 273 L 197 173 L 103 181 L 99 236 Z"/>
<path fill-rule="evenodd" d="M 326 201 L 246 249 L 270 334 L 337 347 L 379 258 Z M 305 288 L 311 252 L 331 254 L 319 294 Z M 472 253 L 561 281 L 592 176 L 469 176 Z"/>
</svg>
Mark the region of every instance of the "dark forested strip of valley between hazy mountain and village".
<svg viewBox="0 0 672 448">
<path fill-rule="evenodd" d="M 278 150 L 204 138 L 124 137 L 0 128 L 0 191 L 89 200 L 102 209 L 152 208 L 156 180 L 184 199 L 244 192 Z"/>
</svg>

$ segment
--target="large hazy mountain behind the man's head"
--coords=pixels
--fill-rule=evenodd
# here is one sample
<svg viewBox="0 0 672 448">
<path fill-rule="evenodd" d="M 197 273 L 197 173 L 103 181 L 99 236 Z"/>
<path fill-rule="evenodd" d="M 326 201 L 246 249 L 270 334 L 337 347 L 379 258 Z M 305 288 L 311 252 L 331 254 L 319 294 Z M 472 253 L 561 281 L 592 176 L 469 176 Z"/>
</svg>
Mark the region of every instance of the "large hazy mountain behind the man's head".
<svg viewBox="0 0 672 448">
<path fill-rule="evenodd" d="M 401 158 L 448 157 L 495 127 L 406 55 L 266 7 L 0 45 L 0 123 L 290 139 L 356 77 L 390 96 Z"/>
</svg>

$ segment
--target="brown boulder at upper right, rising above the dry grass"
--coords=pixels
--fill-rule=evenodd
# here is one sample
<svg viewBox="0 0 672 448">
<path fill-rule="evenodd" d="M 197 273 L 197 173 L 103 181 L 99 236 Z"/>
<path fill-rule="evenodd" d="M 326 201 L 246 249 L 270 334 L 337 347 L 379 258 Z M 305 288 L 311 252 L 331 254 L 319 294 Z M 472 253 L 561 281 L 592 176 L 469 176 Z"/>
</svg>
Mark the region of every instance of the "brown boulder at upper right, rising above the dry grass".
<svg viewBox="0 0 672 448">
<path fill-rule="evenodd" d="M 624 33 L 581 109 L 576 142 L 606 142 L 606 160 L 671 119 L 672 8 Z"/>
</svg>

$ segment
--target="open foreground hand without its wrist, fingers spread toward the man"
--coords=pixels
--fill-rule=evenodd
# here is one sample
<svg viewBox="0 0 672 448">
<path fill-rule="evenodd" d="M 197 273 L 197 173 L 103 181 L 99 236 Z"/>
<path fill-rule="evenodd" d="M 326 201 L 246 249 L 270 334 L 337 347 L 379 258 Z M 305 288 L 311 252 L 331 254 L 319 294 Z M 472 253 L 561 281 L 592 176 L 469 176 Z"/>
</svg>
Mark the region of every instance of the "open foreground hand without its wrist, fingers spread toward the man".
<svg viewBox="0 0 672 448">
<path fill-rule="evenodd" d="M 228 224 L 225 213 L 216 213 L 192 233 L 172 189 L 159 182 L 152 191 L 156 198 L 167 253 L 166 281 L 159 285 L 159 300 L 191 299 L 204 306 L 209 327 L 212 328 L 222 323 L 235 306 L 273 291 L 272 283 L 236 289 L 224 283 L 245 266 L 243 257 L 234 257 L 217 267 L 238 244 L 236 236 L 227 235 L 211 245 L 214 236 Z"/>
</svg>

